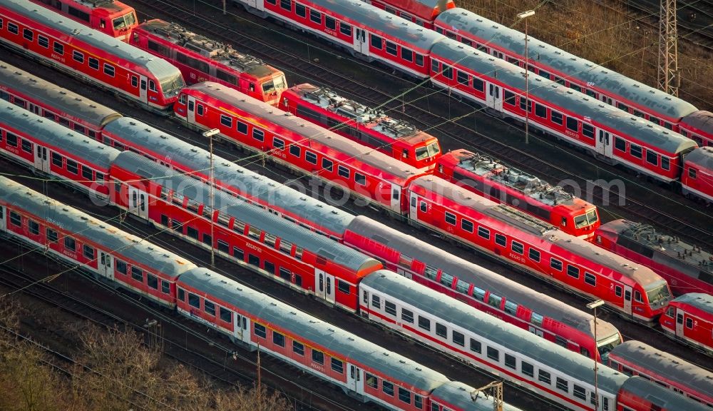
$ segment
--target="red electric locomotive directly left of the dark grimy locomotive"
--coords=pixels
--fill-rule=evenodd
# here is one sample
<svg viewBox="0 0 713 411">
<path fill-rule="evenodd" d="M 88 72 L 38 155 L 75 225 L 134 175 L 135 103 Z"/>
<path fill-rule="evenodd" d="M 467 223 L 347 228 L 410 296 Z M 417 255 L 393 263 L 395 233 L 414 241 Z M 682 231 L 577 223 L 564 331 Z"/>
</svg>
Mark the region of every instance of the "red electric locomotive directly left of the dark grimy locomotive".
<svg viewBox="0 0 713 411">
<path fill-rule="evenodd" d="M 592 203 L 503 166 L 490 156 L 463 149 L 450 151 L 438 159 L 435 175 L 478 196 L 510 204 L 576 237 L 590 237 L 600 225 L 599 211 Z"/>
</svg>

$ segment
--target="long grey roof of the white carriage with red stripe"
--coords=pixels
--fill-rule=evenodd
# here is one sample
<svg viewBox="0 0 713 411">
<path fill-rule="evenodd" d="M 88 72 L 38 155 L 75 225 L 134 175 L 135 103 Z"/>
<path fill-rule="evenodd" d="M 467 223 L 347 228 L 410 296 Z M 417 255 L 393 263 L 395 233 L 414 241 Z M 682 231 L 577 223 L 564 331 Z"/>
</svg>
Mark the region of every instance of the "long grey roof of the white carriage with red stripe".
<svg viewBox="0 0 713 411">
<path fill-rule="evenodd" d="M 441 323 L 450 323 L 468 333 L 501 345 L 506 350 L 523 355 L 565 373 L 579 381 L 590 381 L 594 361 L 578 352 L 573 352 L 544 338 L 533 338 L 531 333 L 476 310 L 453 298 L 426 288 L 413 280 L 388 270 L 378 270 L 361 280 L 362 287 L 386 293 L 417 310 L 435 315 Z M 616 394 L 628 377 L 610 367 L 597 367 L 600 390 Z"/>
</svg>

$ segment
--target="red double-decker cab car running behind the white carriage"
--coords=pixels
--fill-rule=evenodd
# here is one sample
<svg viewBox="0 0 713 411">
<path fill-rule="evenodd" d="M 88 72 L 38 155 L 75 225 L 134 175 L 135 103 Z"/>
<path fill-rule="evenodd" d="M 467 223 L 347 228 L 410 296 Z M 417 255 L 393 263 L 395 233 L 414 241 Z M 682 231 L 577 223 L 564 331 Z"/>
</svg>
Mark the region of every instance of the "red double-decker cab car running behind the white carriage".
<svg viewBox="0 0 713 411">
<path fill-rule="evenodd" d="M 587 357 L 606 360 L 622 341 L 619 331 L 601 318 L 595 336 L 592 315 L 371 218 L 354 218 L 344 232 L 344 244 L 416 283 Z"/>
</svg>

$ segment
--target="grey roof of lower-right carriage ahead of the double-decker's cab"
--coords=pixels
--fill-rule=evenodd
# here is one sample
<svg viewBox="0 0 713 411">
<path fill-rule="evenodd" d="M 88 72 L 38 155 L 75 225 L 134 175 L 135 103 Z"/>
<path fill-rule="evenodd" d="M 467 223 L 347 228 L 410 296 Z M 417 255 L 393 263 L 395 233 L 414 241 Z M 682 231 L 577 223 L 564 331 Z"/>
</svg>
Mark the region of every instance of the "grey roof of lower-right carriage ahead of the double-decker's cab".
<svg viewBox="0 0 713 411">
<path fill-rule="evenodd" d="M 668 352 L 657 350 L 645 342 L 630 340 L 614 347 L 610 355 L 621 357 L 656 375 L 680 382 L 708 397 L 713 397 L 713 372 L 682 360 Z"/>
</svg>

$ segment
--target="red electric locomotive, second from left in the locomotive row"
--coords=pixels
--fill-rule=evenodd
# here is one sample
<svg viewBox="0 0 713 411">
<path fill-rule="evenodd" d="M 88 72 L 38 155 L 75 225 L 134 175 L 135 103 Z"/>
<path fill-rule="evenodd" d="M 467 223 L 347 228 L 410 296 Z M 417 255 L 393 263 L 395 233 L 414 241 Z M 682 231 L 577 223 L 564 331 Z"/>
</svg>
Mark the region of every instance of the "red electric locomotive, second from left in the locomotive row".
<svg viewBox="0 0 713 411">
<path fill-rule="evenodd" d="M 130 44 L 178 67 L 188 84 L 215 81 L 272 106 L 287 88 L 277 68 L 175 23 L 146 21 L 132 31 Z"/>
</svg>

